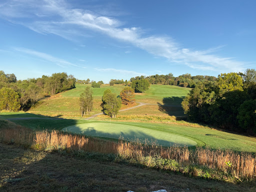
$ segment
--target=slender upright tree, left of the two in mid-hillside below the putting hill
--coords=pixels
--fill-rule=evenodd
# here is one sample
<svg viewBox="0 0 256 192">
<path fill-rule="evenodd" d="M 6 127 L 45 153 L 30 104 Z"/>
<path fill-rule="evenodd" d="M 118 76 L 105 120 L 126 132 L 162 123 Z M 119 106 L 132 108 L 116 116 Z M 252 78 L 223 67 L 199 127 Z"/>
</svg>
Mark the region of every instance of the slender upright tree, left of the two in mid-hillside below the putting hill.
<svg viewBox="0 0 256 192">
<path fill-rule="evenodd" d="M 84 91 L 80 94 L 80 109 L 81 109 L 81 116 L 86 114 L 90 114 L 90 111 L 93 108 L 93 97 L 92 97 L 92 90 L 89 86 L 86 86 Z"/>
</svg>

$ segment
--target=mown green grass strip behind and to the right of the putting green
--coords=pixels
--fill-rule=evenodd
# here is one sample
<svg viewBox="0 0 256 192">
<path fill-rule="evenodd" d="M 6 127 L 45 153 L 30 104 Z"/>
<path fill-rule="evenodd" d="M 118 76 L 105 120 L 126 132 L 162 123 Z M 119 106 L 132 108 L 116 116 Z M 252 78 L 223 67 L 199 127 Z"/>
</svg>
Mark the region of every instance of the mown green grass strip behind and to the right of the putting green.
<svg viewBox="0 0 256 192">
<path fill-rule="evenodd" d="M 34 117 L 34 114 L 26 114 L 26 113 L 0 113 L 1 118 L 11 118 L 26 116 Z M 97 119 L 97 118 L 96 118 Z M 27 126 L 33 129 L 56 129 L 61 130 L 65 127 L 84 123 L 99 123 L 99 122 L 107 122 L 109 123 L 110 119 L 107 121 L 97 121 L 97 120 L 79 120 L 79 119 L 13 119 L 11 121 L 16 124 L 20 124 L 23 126 Z M 111 124 L 115 124 L 115 126 L 122 127 L 123 125 L 128 125 L 132 127 L 136 127 L 137 131 L 139 128 L 141 130 L 154 130 L 160 131 L 163 133 L 179 135 L 185 138 L 189 138 L 197 142 L 197 146 L 205 146 L 212 149 L 231 149 L 234 151 L 246 151 L 246 152 L 254 152 L 256 153 L 256 138 L 243 136 L 239 134 L 232 134 L 224 131 L 219 131 L 207 127 L 194 127 L 191 123 L 188 125 L 179 125 L 179 124 L 162 124 L 162 123 L 146 123 L 146 122 L 114 122 L 111 121 Z M 107 129 L 106 129 L 107 131 Z M 119 135 L 118 135 L 119 136 Z M 130 135 L 134 137 L 133 135 Z M 107 135 L 106 135 L 107 137 Z M 150 136 L 147 136 L 150 137 Z"/>
</svg>

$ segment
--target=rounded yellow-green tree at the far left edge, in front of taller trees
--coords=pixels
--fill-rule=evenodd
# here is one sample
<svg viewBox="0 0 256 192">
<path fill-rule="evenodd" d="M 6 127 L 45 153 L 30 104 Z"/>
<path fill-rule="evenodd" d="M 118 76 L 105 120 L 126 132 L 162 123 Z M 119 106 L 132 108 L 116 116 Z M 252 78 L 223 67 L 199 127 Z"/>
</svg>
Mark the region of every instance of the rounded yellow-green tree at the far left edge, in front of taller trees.
<svg viewBox="0 0 256 192">
<path fill-rule="evenodd" d="M 0 110 L 17 111 L 20 107 L 18 93 L 12 88 L 2 87 L 0 89 Z"/>
</svg>

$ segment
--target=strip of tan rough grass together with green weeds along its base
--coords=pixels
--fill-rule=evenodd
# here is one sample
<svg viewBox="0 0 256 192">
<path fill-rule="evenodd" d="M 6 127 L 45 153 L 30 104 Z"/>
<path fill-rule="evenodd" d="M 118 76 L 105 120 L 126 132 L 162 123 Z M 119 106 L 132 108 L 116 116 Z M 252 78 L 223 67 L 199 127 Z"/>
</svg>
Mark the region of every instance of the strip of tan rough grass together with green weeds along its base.
<svg viewBox="0 0 256 192">
<path fill-rule="evenodd" d="M 105 153 L 106 155 L 97 154 L 96 156 L 107 161 L 129 162 L 142 165 L 142 167 L 178 171 L 186 175 L 226 180 L 233 183 L 242 180 L 255 180 L 255 157 L 250 153 L 238 154 L 230 150 L 210 150 L 201 147 L 195 150 L 178 146 L 165 148 L 155 144 L 142 144 L 139 140 L 114 142 L 64 134 L 56 130 L 33 132 L 6 122 L 13 127 L 0 129 L 0 142 L 4 143 L 14 143 L 42 151 L 67 152 L 83 157 L 87 157 L 88 152 Z M 232 163 L 228 166 L 226 162 L 230 161 Z M 9 178 L 7 175 L 2 182 L 10 180 L 13 181 L 13 178 Z M 20 181 L 19 178 L 17 180 Z"/>
</svg>

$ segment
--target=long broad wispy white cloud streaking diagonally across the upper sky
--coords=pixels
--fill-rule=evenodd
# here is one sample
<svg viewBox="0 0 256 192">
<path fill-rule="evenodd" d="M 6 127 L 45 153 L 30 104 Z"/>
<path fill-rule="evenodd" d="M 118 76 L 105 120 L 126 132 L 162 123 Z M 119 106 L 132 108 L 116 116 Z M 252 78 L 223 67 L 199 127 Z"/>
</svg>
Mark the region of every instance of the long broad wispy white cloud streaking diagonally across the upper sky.
<svg viewBox="0 0 256 192">
<path fill-rule="evenodd" d="M 190 68 L 229 72 L 242 71 L 245 67 L 234 58 L 213 54 L 219 47 L 207 50 L 183 48 L 168 36 L 145 36 L 139 27 L 121 27 L 122 22 L 118 19 L 73 8 L 65 0 L 8 0 L 0 5 L 0 17 L 38 33 L 51 33 L 69 40 L 97 31 Z"/>
</svg>

